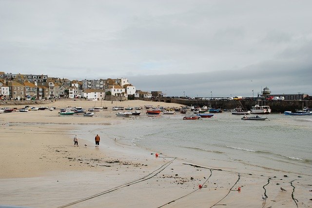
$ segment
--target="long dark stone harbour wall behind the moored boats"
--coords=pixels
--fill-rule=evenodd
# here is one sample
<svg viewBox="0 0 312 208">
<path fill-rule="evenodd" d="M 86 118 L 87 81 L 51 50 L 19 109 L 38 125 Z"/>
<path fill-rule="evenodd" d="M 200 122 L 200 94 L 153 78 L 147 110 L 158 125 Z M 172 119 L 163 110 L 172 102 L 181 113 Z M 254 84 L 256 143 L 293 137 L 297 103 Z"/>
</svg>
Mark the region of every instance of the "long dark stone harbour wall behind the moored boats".
<svg viewBox="0 0 312 208">
<path fill-rule="evenodd" d="M 312 108 L 312 101 L 228 101 L 228 100 L 187 100 L 179 98 L 156 98 L 153 101 L 165 102 L 165 103 L 176 103 L 181 105 L 194 105 L 194 106 L 211 106 L 213 108 L 222 109 L 234 109 L 236 107 L 243 107 L 250 109 L 252 106 L 259 105 L 269 105 L 272 112 L 284 112 L 291 111 L 295 109 L 302 109 L 304 107 Z"/>
</svg>

